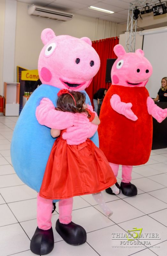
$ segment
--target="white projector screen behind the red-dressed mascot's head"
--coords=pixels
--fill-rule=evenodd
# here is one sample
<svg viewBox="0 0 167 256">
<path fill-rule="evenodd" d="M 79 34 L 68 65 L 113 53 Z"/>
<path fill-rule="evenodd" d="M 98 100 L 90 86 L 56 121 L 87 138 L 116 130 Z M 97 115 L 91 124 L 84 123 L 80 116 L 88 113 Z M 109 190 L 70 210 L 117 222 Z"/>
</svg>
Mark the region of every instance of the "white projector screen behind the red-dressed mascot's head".
<svg viewBox="0 0 167 256">
<path fill-rule="evenodd" d="M 161 79 L 167 77 L 167 32 L 144 35 L 143 51 L 153 66 L 153 74 L 146 88 L 150 97 L 156 98 L 161 87 Z"/>
</svg>

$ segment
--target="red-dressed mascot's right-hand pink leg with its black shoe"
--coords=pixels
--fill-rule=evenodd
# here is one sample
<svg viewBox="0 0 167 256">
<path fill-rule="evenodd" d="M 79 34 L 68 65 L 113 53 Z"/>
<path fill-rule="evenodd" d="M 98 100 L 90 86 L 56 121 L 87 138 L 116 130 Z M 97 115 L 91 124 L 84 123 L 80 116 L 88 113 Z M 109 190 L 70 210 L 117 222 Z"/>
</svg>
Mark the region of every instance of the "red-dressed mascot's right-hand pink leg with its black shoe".
<svg viewBox="0 0 167 256">
<path fill-rule="evenodd" d="M 122 166 L 122 182 L 121 182 L 121 191 L 125 196 L 135 196 L 137 195 L 137 188 L 134 184 L 131 183 L 132 179 L 132 169 L 131 165 Z"/>
</svg>

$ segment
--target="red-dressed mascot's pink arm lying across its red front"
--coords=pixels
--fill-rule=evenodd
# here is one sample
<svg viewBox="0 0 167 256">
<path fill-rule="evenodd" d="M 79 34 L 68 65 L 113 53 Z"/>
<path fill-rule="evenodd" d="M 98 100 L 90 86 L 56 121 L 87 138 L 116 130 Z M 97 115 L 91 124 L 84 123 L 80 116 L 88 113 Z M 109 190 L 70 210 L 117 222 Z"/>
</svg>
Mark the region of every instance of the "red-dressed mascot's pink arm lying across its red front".
<svg viewBox="0 0 167 256">
<path fill-rule="evenodd" d="M 111 107 L 119 114 L 125 115 L 128 119 L 136 121 L 138 117 L 133 113 L 131 107 L 132 103 L 125 103 L 121 101 L 121 98 L 114 94 L 110 99 Z"/>
</svg>

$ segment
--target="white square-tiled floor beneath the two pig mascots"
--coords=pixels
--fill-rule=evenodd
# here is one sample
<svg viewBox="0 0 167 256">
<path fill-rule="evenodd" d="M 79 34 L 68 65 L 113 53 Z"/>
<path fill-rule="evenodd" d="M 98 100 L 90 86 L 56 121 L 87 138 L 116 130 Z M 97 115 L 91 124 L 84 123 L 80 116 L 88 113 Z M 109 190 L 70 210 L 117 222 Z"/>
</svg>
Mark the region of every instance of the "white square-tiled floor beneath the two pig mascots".
<svg viewBox="0 0 167 256">
<path fill-rule="evenodd" d="M 11 165 L 10 142 L 17 117 L 0 116 L 0 256 L 32 256 L 30 239 L 36 229 L 36 192 L 22 183 Z M 112 196 L 103 192 L 113 210 L 105 217 L 92 195 L 74 198 L 72 220 L 87 231 L 87 242 L 80 246 L 65 243 L 54 226 L 55 247 L 50 256 L 167 256 L 167 149 L 152 150 L 143 166 L 133 168 L 138 195 Z M 121 181 L 121 170 L 118 182 Z M 113 239 L 142 228 L 143 240 Z M 147 239 L 147 234 L 160 239 Z M 147 236 L 148 237 L 148 236 Z M 129 242 L 129 244 L 127 243 Z M 145 245 L 137 244 L 139 242 Z M 135 244 L 136 243 L 136 244 Z"/>
</svg>

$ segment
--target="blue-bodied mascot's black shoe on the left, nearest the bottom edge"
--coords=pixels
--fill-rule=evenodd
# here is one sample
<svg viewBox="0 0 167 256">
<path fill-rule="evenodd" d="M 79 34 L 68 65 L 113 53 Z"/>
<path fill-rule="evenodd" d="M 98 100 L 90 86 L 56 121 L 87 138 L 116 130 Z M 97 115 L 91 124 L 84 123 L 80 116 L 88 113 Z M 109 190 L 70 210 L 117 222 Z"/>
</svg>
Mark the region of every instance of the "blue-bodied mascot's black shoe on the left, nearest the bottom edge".
<svg viewBox="0 0 167 256">
<path fill-rule="evenodd" d="M 48 230 L 36 228 L 31 239 L 30 250 L 37 255 L 50 253 L 54 248 L 54 237 L 52 227 Z"/>
</svg>

